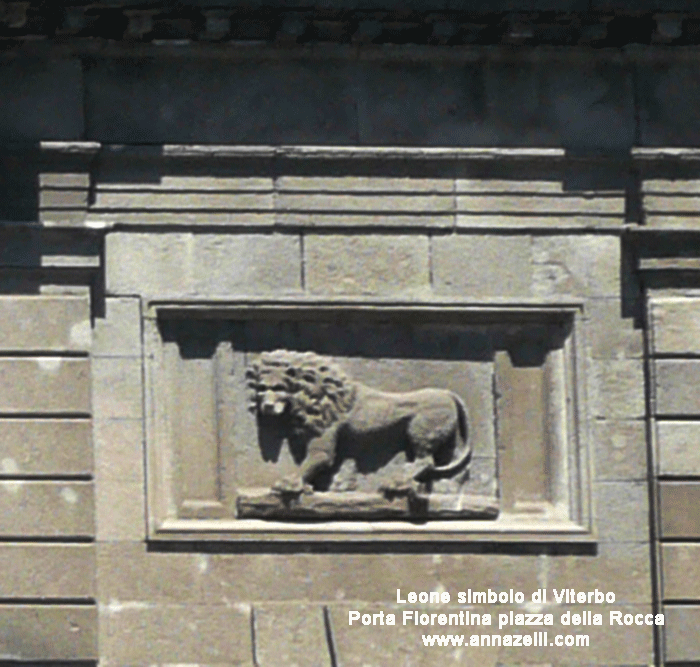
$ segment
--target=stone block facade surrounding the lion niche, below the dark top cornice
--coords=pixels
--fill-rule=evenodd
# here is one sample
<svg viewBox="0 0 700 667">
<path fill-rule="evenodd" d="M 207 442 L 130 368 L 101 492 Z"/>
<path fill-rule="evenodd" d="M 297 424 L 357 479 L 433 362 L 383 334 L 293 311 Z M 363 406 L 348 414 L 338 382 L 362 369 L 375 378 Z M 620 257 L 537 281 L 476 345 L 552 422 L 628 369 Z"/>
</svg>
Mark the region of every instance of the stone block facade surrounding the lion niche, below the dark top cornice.
<svg viewBox="0 0 700 667">
<path fill-rule="evenodd" d="M 693 57 L 167 48 L 0 67 L 3 659 L 700 659 Z M 493 343 L 511 403 L 541 393 L 496 430 L 497 522 L 185 516 L 181 496 L 221 459 L 197 441 L 191 468 L 177 463 L 163 313 L 196 329 L 265 308 L 472 327 L 561 316 L 561 404 L 542 389 L 550 366 Z M 215 357 L 180 354 L 180 397 L 204 410 L 199 361 Z M 545 405 L 564 415 L 559 445 Z M 537 516 L 513 500 L 535 474 Z M 542 587 L 557 621 L 579 608 L 552 589 L 615 593 L 603 626 L 547 628 L 587 632 L 589 648 L 426 649 L 420 627 L 348 626 L 351 609 L 402 611 L 397 588 Z M 609 608 L 667 625 L 610 626 Z"/>
</svg>

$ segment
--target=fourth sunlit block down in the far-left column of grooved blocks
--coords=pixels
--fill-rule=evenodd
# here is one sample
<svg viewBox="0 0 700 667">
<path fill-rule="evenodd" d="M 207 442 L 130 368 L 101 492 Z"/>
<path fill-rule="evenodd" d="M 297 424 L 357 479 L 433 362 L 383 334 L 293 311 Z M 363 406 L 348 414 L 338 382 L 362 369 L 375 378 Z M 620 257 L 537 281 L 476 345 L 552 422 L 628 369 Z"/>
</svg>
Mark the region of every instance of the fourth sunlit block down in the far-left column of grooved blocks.
<svg viewBox="0 0 700 667">
<path fill-rule="evenodd" d="M 0 482 L 4 538 L 93 537 L 91 482 Z"/>
</svg>

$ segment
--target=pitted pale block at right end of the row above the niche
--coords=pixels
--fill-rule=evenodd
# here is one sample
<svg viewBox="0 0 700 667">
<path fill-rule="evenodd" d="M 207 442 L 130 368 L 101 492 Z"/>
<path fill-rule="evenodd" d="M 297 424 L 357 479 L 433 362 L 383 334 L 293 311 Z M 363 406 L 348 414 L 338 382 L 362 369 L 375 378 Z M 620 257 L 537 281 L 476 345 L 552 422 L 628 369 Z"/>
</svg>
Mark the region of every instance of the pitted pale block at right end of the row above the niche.
<svg viewBox="0 0 700 667">
<path fill-rule="evenodd" d="M 537 296 L 619 298 L 617 236 L 535 236 L 532 261 Z"/>
</svg>

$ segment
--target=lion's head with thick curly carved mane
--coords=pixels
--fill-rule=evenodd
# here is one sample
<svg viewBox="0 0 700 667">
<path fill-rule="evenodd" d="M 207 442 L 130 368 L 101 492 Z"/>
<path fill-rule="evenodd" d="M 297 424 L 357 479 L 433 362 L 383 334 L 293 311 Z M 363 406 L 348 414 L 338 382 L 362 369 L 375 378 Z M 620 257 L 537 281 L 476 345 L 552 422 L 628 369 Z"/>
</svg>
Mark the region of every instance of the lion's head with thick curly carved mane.
<svg viewBox="0 0 700 667">
<path fill-rule="evenodd" d="M 348 412 L 355 387 L 330 359 L 313 352 L 263 352 L 246 371 L 251 409 L 261 415 L 288 414 L 298 435 L 320 435 Z"/>
</svg>

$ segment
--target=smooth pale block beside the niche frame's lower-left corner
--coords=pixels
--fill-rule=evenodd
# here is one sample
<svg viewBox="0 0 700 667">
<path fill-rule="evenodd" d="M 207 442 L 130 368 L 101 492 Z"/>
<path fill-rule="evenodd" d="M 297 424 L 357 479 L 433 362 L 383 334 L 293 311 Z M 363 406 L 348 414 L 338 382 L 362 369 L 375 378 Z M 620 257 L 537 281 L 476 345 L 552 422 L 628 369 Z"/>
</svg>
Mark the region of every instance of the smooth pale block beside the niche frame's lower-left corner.
<svg viewBox="0 0 700 667">
<path fill-rule="evenodd" d="M 99 541 L 143 541 L 146 534 L 144 484 L 105 478 L 98 468 L 95 521 Z"/>
</svg>

